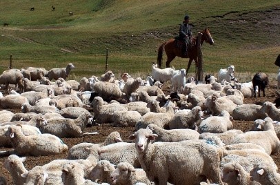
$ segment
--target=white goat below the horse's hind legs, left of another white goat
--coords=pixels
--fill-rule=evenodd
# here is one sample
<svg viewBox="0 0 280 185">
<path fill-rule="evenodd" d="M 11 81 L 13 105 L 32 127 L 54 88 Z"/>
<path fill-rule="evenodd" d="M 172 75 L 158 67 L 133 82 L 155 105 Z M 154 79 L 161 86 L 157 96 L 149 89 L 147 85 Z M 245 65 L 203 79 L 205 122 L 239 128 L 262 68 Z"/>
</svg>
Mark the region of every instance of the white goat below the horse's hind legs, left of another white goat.
<svg viewBox="0 0 280 185">
<path fill-rule="evenodd" d="M 157 64 L 152 64 L 152 78 L 161 83 L 171 81 L 174 70 L 174 68 L 157 68 Z"/>
</svg>

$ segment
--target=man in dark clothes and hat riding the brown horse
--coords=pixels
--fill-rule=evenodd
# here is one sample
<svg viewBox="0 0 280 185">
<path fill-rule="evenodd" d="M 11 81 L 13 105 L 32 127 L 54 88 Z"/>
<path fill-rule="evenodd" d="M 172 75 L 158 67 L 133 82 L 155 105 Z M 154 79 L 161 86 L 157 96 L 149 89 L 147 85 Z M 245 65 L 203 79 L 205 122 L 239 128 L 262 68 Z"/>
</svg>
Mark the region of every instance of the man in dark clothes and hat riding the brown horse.
<svg viewBox="0 0 280 185">
<path fill-rule="evenodd" d="M 179 30 L 179 39 L 185 43 L 185 46 L 183 46 L 183 55 L 188 55 L 188 47 L 191 46 L 190 37 L 192 37 L 192 31 L 190 30 L 189 21 L 190 17 L 186 15 Z"/>
</svg>

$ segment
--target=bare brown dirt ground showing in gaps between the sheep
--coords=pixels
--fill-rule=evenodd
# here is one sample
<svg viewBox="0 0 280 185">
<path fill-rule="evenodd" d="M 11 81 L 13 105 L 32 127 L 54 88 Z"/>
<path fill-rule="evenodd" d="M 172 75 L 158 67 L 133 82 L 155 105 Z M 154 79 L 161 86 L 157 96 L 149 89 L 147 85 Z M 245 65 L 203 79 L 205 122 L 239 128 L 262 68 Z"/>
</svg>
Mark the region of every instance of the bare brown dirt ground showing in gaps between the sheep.
<svg viewBox="0 0 280 185">
<path fill-rule="evenodd" d="M 276 98 L 274 92 L 276 90 L 276 86 L 270 86 L 266 89 L 266 97 L 257 97 L 257 98 L 247 98 L 245 99 L 244 103 L 248 104 L 263 104 L 265 101 L 274 101 Z M 261 94 L 262 95 L 262 94 Z M 13 112 L 17 112 L 19 110 L 11 110 Z M 234 129 L 240 129 L 244 132 L 250 130 L 252 126 L 252 121 L 232 121 L 234 124 Z M 112 133 L 113 131 L 118 131 L 121 134 L 121 138 L 124 142 L 130 142 L 128 140 L 128 136 L 133 133 L 133 127 L 127 128 L 119 128 L 114 127 L 110 124 L 102 124 L 101 126 L 92 126 L 86 128 L 84 132 L 95 132 L 97 131 L 98 135 L 91 135 L 79 138 L 62 138 L 63 142 L 68 145 L 68 148 L 71 148 L 75 144 L 79 144 L 81 142 L 92 142 L 92 143 L 101 143 L 105 140 L 105 137 Z M 12 148 L 0 148 L 0 150 L 11 150 Z M 34 166 L 47 164 L 54 159 L 66 159 L 68 153 L 63 153 L 61 155 L 49 155 L 49 156 L 42 156 L 42 157 L 32 157 L 28 156 L 26 162 L 24 163 L 26 168 L 30 170 Z M 280 153 L 276 153 L 272 155 L 274 162 L 277 166 L 280 166 Z M 6 157 L 0 157 L 0 176 L 6 177 L 7 184 L 12 184 L 12 179 L 10 177 L 10 173 L 3 168 L 3 162 L 5 161 Z"/>
</svg>

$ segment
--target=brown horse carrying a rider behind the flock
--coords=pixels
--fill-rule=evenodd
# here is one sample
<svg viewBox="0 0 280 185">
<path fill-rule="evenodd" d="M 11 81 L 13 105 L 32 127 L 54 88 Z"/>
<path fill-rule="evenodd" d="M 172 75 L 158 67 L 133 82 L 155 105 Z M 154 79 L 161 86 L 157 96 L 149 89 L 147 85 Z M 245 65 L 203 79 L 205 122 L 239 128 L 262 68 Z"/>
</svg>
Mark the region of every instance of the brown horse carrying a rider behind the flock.
<svg viewBox="0 0 280 185">
<path fill-rule="evenodd" d="M 198 35 L 201 34 L 201 42 L 199 43 L 200 46 L 202 45 L 203 41 L 206 41 L 212 45 L 214 43 L 211 35 L 210 35 L 210 30 L 206 28 L 202 32 L 199 32 Z M 194 46 L 192 46 L 190 49 L 188 49 L 188 55 L 183 55 L 183 50 L 181 48 L 176 47 L 176 40 L 175 39 L 170 39 L 169 41 L 166 41 L 159 46 L 159 50 L 157 52 L 157 64 L 159 65 L 159 68 L 161 68 L 161 63 L 162 63 L 162 55 L 163 55 L 163 50 L 166 51 L 167 55 L 167 61 L 166 61 L 166 68 L 170 67 L 171 61 L 177 56 L 181 58 L 190 58 L 188 61 L 188 68 L 186 72 L 188 73 L 188 70 L 190 69 L 190 64 L 192 61 L 195 61 L 196 67 L 197 67 L 197 57 L 198 57 L 198 52 L 197 52 L 197 37 L 194 37 L 192 39 L 194 42 Z"/>
</svg>

